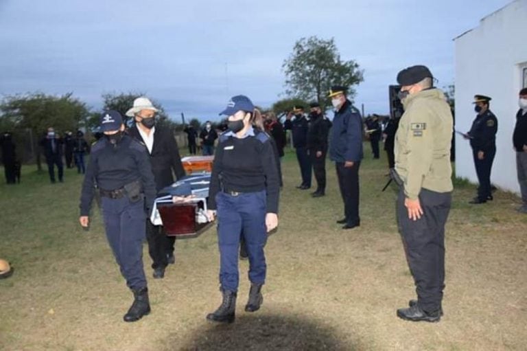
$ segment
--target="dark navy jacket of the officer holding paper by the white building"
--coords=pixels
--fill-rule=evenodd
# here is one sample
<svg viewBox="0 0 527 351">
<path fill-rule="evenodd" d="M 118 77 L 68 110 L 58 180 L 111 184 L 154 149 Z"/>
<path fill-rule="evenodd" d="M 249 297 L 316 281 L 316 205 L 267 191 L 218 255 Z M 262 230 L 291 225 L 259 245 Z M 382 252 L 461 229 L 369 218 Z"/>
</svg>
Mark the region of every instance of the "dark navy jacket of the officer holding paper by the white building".
<svg viewBox="0 0 527 351">
<path fill-rule="evenodd" d="M 496 148 L 497 119 L 490 110 L 476 116 L 468 135 L 470 146 L 475 151 L 490 151 Z"/>
</svg>

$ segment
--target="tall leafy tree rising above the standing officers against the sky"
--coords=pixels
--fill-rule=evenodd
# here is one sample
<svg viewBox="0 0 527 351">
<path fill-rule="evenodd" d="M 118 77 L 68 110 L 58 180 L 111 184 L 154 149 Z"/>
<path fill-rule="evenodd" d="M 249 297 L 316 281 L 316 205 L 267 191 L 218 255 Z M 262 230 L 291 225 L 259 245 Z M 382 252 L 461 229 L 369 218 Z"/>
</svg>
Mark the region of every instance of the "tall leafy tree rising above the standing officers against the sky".
<svg viewBox="0 0 527 351">
<path fill-rule="evenodd" d="M 348 96 L 353 99 L 353 86 L 362 82 L 363 71 L 354 60 L 340 58 L 333 38 L 329 41 L 316 36 L 301 38 L 293 47 L 293 52 L 282 65 L 285 73 L 285 91 L 289 96 L 303 100 L 316 100 L 320 105 L 329 103 L 327 92 L 331 85 L 348 88 Z"/>
</svg>

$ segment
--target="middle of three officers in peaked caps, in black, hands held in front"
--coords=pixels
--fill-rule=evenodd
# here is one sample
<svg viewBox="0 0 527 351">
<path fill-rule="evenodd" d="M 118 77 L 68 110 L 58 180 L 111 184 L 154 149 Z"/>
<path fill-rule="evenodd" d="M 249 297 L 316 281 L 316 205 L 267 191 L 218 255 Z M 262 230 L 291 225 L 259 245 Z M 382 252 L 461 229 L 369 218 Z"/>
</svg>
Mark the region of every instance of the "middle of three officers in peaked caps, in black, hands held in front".
<svg viewBox="0 0 527 351">
<path fill-rule="evenodd" d="M 326 154 L 327 135 L 329 133 L 329 121 L 326 120 L 318 102 L 309 104 L 309 128 L 307 130 L 307 150 L 313 165 L 316 179 L 316 191 L 313 197 L 324 196 L 326 192 Z"/>
</svg>

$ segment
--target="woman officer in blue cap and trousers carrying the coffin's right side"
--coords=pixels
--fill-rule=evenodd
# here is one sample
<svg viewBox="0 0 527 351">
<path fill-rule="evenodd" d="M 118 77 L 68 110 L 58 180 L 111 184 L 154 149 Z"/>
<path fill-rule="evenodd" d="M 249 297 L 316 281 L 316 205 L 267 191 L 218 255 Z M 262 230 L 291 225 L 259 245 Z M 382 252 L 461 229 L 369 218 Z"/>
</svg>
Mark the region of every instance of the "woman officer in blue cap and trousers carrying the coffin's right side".
<svg viewBox="0 0 527 351">
<path fill-rule="evenodd" d="M 209 218 L 218 211 L 220 291 L 223 302 L 207 319 L 232 323 L 238 290 L 240 233 L 249 258 L 250 293 L 247 312 L 260 308 L 266 280 L 264 246 L 267 232 L 278 225 L 279 177 L 270 137 L 255 130 L 255 106 L 244 95 L 229 101 L 225 111 L 229 131 L 222 134 L 209 188 Z"/>
</svg>

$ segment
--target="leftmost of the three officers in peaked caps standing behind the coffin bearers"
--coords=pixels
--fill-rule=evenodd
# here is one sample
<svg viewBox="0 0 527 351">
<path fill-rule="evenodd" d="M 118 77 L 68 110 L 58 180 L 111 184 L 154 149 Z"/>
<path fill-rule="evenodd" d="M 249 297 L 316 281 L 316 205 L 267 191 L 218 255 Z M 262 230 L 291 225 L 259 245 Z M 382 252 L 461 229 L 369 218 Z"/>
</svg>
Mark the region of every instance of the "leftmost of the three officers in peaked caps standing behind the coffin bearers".
<svg viewBox="0 0 527 351">
<path fill-rule="evenodd" d="M 294 116 L 294 119 L 292 117 Z M 300 166 L 300 173 L 302 176 L 302 183 L 296 188 L 306 190 L 311 188 L 311 159 L 309 158 L 309 150 L 307 149 L 307 130 L 309 129 L 309 121 L 304 115 L 303 106 L 293 106 L 292 113 L 288 113 L 285 117 L 283 128 L 287 131 L 292 131 L 293 146 L 296 150 L 296 159 L 298 166 Z"/>
</svg>

